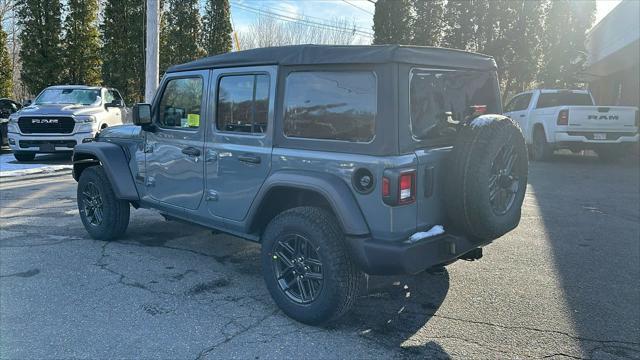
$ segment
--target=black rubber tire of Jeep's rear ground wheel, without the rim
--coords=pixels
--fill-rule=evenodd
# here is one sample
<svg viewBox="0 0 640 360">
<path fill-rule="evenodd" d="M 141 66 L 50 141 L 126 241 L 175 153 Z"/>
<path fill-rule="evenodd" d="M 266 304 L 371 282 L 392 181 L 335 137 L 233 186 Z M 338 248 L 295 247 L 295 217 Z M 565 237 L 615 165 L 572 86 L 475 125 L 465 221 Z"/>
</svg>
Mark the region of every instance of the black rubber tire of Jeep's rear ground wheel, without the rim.
<svg viewBox="0 0 640 360">
<path fill-rule="evenodd" d="M 322 262 L 323 284 L 317 298 L 308 304 L 290 299 L 278 285 L 274 249 L 292 234 L 304 236 Z M 289 317 L 309 325 L 324 325 L 339 319 L 355 303 L 363 275 L 349 257 L 344 234 L 335 217 L 320 208 L 297 207 L 277 215 L 262 236 L 262 272 L 267 289 Z"/>
</svg>

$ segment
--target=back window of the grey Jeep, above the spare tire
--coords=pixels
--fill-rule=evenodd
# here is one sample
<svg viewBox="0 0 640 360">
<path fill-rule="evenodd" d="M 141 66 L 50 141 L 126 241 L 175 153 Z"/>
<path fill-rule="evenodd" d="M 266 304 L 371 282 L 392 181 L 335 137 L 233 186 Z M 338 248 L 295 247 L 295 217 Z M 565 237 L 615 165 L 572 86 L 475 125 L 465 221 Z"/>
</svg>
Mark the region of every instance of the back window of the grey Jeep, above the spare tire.
<svg viewBox="0 0 640 360">
<path fill-rule="evenodd" d="M 410 74 L 411 132 L 416 140 L 446 138 L 452 134 L 447 118 L 462 121 L 472 105 L 486 105 L 499 114 L 500 97 L 495 72 L 413 69 Z M 450 113 L 450 114 L 449 114 Z"/>
</svg>

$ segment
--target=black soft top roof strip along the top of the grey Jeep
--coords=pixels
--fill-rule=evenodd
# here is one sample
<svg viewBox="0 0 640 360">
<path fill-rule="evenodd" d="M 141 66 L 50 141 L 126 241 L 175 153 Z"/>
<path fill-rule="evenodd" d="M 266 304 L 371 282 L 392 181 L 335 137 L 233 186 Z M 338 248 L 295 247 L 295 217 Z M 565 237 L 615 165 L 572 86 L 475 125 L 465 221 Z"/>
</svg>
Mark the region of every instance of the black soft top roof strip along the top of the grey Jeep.
<svg viewBox="0 0 640 360">
<path fill-rule="evenodd" d="M 492 57 L 461 50 L 404 45 L 291 45 L 251 49 L 174 65 L 167 72 L 253 65 L 405 63 L 495 70 Z"/>
</svg>

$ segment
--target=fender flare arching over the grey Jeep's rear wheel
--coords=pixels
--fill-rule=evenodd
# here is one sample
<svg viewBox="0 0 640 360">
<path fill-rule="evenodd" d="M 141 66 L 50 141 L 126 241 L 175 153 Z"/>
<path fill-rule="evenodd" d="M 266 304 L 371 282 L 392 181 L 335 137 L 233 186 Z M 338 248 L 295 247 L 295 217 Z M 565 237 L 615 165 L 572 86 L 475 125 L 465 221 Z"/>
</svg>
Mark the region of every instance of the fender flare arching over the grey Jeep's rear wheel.
<svg viewBox="0 0 640 360">
<path fill-rule="evenodd" d="M 346 234 L 355 236 L 369 234 L 369 226 L 347 184 L 335 175 L 310 171 L 281 170 L 269 176 L 249 210 L 247 218 L 249 224 L 255 220 L 269 192 L 282 187 L 309 190 L 320 194 L 331 206 Z"/>
</svg>

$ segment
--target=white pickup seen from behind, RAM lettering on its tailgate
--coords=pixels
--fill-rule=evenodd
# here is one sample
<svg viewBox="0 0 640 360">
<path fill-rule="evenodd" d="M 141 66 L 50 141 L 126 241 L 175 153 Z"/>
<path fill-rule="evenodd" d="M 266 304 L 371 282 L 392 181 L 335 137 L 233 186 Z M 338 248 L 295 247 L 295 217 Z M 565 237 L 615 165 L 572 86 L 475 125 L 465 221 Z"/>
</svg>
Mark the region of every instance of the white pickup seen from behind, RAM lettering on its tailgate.
<svg viewBox="0 0 640 360">
<path fill-rule="evenodd" d="M 557 149 L 591 149 L 607 161 L 623 157 L 638 142 L 638 108 L 596 106 L 586 90 L 532 90 L 517 94 L 504 114 L 517 121 L 533 160 Z"/>
</svg>

